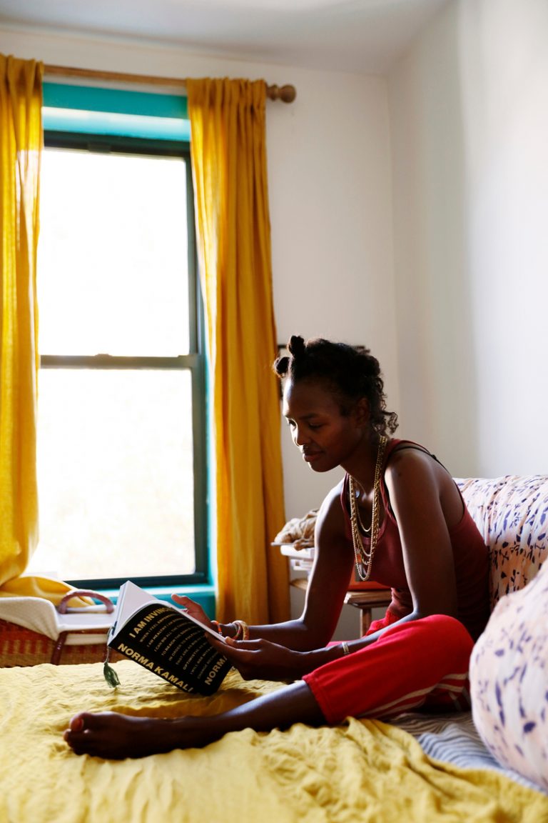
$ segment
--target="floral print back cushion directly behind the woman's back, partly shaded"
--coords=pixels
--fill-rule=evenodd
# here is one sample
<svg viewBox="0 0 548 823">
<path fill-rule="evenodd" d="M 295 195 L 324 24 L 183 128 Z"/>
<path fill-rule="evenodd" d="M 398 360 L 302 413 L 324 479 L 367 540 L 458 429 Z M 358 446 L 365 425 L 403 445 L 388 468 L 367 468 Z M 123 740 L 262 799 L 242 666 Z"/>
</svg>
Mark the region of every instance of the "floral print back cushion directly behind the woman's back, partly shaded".
<svg viewBox="0 0 548 823">
<path fill-rule="evenodd" d="M 548 477 L 457 479 L 490 548 L 490 607 L 529 583 L 548 557 Z"/>
</svg>

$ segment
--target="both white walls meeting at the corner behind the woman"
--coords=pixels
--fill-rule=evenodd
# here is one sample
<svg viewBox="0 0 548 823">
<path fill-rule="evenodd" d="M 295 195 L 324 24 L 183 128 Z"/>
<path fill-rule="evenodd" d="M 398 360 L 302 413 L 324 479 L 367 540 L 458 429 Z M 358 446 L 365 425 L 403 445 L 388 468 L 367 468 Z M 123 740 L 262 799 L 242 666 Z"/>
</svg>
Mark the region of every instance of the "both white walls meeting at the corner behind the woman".
<svg viewBox="0 0 548 823">
<path fill-rule="evenodd" d="M 267 109 L 279 341 L 366 342 L 400 434 L 490 476 L 548 464 L 547 42 L 546 0 L 451 0 L 386 83 L 0 29 L 47 63 L 294 83 Z M 283 459 L 291 517 L 336 477 L 285 431 Z"/>
</svg>

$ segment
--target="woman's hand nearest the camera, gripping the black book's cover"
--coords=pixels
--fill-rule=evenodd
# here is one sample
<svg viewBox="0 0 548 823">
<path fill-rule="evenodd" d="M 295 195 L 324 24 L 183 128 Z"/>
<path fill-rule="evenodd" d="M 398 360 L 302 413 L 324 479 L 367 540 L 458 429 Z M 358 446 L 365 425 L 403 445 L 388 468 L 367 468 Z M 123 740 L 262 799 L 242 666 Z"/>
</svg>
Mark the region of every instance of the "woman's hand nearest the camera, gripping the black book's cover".
<svg viewBox="0 0 548 823">
<path fill-rule="evenodd" d="M 311 667 L 306 665 L 309 653 L 295 652 L 270 643 L 269 640 L 207 639 L 233 664 L 244 680 L 299 680 Z"/>
</svg>

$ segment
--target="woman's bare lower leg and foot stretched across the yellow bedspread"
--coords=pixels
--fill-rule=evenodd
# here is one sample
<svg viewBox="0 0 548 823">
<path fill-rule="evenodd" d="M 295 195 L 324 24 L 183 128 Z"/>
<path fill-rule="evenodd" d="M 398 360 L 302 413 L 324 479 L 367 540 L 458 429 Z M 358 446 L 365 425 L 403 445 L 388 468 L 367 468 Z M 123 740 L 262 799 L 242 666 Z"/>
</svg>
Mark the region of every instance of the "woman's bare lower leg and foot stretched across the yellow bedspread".
<svg viewBox="0 0 548 823">
<path fill-rule="evenodd" d="M 244 728 L 269 732 L 273 728 L 288 728 L 292 723 L 310 726 L 325 723 L 320 707 L 303 681 L 211 717 L 161 719 L 129 717 L 116 712 L 84 712 L 71 719 L 64 738 L 77 755 L 119 760 L 172 749 L 200 748 L 227 732 Z"/>
</svg>

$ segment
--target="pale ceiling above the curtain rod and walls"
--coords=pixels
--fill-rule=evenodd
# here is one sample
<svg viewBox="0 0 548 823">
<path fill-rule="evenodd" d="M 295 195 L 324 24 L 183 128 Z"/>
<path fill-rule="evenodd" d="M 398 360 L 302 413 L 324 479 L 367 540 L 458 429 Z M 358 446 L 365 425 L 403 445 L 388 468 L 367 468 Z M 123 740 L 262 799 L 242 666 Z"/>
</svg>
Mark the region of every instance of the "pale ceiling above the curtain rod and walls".
<svg viewBox="0 0 548 823">
<path fill-rule="evenodd" d="M 382 74 L 450 0 L 0 0 L 0 26 Z"/>
</svg>

